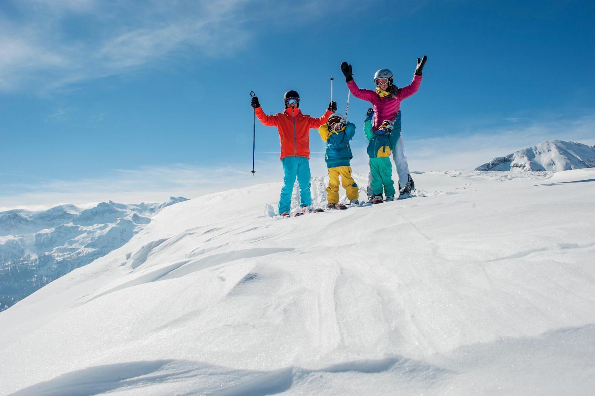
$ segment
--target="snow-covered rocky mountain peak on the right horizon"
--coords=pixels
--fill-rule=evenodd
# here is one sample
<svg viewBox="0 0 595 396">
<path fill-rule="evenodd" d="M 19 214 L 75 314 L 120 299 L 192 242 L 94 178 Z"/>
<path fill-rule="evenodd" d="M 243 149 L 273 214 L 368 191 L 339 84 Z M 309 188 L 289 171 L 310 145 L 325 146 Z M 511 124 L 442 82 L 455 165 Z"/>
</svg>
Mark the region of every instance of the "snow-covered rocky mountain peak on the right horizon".
<svg viewBox="0 0 595 396">
<path fill-rule="evenodd" d="M 595 146 L 576 142 L 553 140 L 537 146 L 516 151 L 505 157 L 497 157 L 478 166 L 476 171 L 568 171 L 593 168 Z"/>
</svg>

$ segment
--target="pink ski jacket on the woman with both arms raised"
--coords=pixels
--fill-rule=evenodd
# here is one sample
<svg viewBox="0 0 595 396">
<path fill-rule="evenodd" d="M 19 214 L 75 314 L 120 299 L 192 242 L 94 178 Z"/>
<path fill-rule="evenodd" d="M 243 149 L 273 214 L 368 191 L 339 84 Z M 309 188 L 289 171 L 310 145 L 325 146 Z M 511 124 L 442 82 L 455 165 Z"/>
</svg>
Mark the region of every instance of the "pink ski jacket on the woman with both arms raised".
<svg viewBox="0 0 595 396">
<path fill-rule="evenodd" d="M 360 89 L 355 83 L 355 80 L 349 81 L 347 87 L 351 91 L 352 95 L 359 99 L 367 100 L 372 103 L 374 107 L 374 120 L 372 120 L 372 130 L 377 131 L 378 127 L 384 120 L 394 120 L 394 116 L 397 115 L 401 108 L 401 100 L 409 98 L 419 89 L 421 84 L 422 76 L 414 76 L 413 81 L 406 87 L 397 89 L 397 95 L 385 96 L 380 98 L 375 91 L 369 89 Z"/>
</svg>

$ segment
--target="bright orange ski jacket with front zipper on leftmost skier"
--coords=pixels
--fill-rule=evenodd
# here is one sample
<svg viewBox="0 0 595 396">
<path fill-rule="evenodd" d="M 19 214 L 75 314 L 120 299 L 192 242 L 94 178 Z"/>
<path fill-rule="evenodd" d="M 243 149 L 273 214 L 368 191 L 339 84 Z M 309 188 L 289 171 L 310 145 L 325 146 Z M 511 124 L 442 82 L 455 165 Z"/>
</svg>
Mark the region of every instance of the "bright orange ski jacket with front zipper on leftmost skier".
<svg viewBox="0 0 595 396">
<path fill-rule="evenodd" d="M 279 142 L 281 143 L 281 156 L 306 157 L 310 159 L 310 129 L 320 127 L 327 122 L 333 114 L 327 110 L 322 117 L 313 118 L 302 114 L 298 108 L 287 108 L 282 113 L 266 115 L 262 107 L 256 108 L 256 117 L 267 127 L 277 127 Z"/>
</svg>

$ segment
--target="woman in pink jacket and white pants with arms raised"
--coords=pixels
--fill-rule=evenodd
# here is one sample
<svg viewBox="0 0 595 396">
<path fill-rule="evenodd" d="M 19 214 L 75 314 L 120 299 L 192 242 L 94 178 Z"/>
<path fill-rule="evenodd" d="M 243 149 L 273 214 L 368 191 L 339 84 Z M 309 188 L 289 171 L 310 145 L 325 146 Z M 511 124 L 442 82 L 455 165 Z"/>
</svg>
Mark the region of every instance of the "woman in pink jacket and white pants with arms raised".
<svg viewBox="0 0 595 396">
<path fill-rule="evenodd" d="M 401 108 L 401 101 L 413 95 L 419 89 L 422 79 L 422 70 L 427 56 L 417 59 L 417 67 L 413 81 L 406 87 L 399 88 L 393 84 L 393 73 L 388 69 L 380 69 L 374 74 L 374 83 L 376 89 L 360 89 L 353 80 L 352 67 L 347 62 L 341 64 L 341 71 L 347 81 L 347 87 L 350 92 L 359 99 L 367 100 L 372 103 L 374 108 L 374 119 L 372 120 L 372 131 L 377 131 L 380 124 L 385 120 L 393 121 Z M 415 190 L 415 184 L 409 174 L 409 166 L 405 157 L 405 147 L 403 146 L 403 134 L 399 137 L 396 147 L 393 151 L 394 165 L 399 174 L 399 197 L 406 198 Z M 373 198 L 371 192 L 371 175 L 368 175 L 368 197 L 369 201 Z"/>
</svg>

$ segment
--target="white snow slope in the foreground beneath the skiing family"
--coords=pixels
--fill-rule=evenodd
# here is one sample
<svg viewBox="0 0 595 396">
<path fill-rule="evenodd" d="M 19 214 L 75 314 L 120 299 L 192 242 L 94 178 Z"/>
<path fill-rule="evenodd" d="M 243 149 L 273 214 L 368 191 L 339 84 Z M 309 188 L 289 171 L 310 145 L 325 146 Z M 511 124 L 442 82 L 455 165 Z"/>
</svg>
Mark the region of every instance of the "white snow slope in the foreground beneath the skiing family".
<svg viewBox="0 0 595 396">
<path fill-rule="evenodd" d="M 415 183 L 290 219 L 277 183 L 165 208 L 0 313 L 0 394 L 594 394 L 595 169 Z"/>
</svg>

